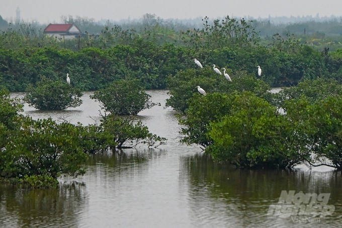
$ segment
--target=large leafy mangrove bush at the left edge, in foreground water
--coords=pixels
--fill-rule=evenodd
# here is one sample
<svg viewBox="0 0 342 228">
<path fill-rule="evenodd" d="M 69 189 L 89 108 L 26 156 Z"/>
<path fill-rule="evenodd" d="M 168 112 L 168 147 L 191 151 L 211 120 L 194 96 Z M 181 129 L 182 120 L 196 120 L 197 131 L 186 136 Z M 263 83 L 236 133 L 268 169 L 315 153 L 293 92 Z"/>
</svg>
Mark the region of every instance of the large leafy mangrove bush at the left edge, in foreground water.
<svg viewBox="0 0 342 228">
<path fill-rule="evenodd" d="M 86 159 L 78 129 L 52 119 L 33 120 L 19 114 L 18 99 L 1 91 L 0 178 L 34 188 L 58 185 L 60 175 L 84 173 Z M 5 117 L 6 115 L 6 117 Z"/>
</svg>

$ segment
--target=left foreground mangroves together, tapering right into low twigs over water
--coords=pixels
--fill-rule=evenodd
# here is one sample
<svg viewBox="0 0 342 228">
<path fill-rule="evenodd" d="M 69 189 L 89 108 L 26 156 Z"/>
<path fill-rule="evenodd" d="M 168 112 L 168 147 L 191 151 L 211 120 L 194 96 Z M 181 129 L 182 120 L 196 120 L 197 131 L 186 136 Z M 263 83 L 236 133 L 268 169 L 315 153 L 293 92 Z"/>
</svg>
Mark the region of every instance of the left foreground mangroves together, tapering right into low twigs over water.
<svg viewBox="0 0 342 228">
<path fill-rule="evenodd" d="M 67 86 L 69 86 L 67 84 Z M 108 148 L 131 148 L 138 144 L 157 147 L 166 139 L 152 134 L 141 121 L 113 114 L 101 124 L 82 126 L 56 123 L 51 118 L 34 120 L 20 114 L 19 99 L 0 90 L 0 180 L 34 188 L 58 185 L 61 175 L 84 174 L 87 154 Z"/>
</svg>

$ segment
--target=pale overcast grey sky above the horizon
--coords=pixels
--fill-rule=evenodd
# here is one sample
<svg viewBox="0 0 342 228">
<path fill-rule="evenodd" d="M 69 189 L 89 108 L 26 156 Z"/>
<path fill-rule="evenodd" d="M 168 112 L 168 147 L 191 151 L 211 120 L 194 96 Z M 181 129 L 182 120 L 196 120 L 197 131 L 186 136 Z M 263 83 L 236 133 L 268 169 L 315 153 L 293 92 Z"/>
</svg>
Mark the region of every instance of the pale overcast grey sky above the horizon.
<svg viewBox="0 0 342 228">
<path fill-rule="evenodd" d="M 18 7 L 21 20 L 40 23 L 60 23 L 69 15 L 119 21 L 147 13 L 162 19 L 342 16 L 342 0 L 0 0 L 0 15 L 15 20 Z"/>
</svg>

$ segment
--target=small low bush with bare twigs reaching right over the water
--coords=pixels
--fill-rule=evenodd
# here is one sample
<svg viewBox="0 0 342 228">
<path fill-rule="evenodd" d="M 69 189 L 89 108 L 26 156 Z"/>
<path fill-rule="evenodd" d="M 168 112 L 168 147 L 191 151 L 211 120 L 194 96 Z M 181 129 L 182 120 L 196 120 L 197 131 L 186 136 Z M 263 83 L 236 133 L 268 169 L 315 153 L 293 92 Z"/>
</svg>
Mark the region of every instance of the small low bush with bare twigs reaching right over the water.
<svg viewBox="0 0 342 228">
<path fill-rule="evenodd" d="M 131 118 L 121 118 L 114 114 L 102 120 L 101 128 L 104 137 L 108 139 L 107 145 L 112 148 L 132 148 L 141 143 L 157 147 L 166 143 L 166 138 L 150 133 L 140 120 L 135 122 Z"/>
</svg>

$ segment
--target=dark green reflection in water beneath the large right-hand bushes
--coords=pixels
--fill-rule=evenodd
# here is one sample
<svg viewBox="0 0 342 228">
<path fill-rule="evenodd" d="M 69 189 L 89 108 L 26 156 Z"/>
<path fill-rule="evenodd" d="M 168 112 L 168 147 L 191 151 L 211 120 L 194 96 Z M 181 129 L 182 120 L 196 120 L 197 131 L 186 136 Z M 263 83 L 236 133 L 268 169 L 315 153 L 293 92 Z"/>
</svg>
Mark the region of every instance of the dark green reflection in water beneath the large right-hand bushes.
<svg viewBox="0 0 342 228">
<path fill-rule="evenodd" d="M 331 193 L 328 204 L 335 207 L 342 200 L 341 173 L 333 171 L 236 169 L 214 163 L 206 154 L 182 157 L 181 171 L 189 180 L 189 204 L 200 225 L 213 224 L 213 220 L 231 226 L 293 225 L 291 218 L 280 221 L 267 216 L 282 190 Z M 324 221 L 342 222 L 342 218 L 336 219 L 340 212 L 336 208 Z"/>
</svg>

